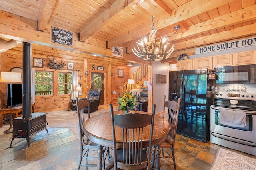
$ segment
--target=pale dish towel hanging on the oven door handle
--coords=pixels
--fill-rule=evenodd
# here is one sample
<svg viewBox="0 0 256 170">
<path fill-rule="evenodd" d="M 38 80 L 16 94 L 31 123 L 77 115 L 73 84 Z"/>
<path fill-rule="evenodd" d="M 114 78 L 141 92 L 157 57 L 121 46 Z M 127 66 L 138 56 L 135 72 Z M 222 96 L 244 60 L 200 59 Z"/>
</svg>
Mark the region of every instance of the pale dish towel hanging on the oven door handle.
<svg viewBox="0 0 256 170">
<path fill-rule="evenodd" d="M 220 109 L 220 123 L 232 127 L 245 127 L 246 112 Z"/>
</svg>

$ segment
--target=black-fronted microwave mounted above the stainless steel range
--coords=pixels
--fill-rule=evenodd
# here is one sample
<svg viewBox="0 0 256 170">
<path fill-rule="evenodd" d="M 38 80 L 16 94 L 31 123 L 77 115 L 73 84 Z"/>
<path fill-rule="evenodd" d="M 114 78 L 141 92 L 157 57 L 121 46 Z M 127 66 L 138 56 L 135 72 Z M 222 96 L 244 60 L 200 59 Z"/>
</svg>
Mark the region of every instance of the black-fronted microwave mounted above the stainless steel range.
<svg viewBox="0 0 256 170">
<path fill-rule="evenodd" d="M 256 64 L 216 67 L 216 84 L 256 84 Z"/>
</svg>

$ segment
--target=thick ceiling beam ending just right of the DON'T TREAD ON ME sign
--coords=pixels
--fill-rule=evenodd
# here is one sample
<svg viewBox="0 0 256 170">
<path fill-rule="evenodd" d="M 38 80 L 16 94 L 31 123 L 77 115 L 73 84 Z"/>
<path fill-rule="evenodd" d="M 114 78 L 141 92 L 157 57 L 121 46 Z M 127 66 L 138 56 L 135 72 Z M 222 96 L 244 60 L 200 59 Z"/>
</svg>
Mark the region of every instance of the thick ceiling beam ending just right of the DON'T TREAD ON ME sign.
<svg viewBox="0 0 256 170">
<path fill-rule="evenodd" d="M 110 8 L 107 8 L 87 27 L 80 31 L 80 41 L 86 41 L 94 33 L 114 21 L 116 16 L 129 11 L 134 5 L 138 5 L 137 3 L 137 0 L 116 0 L 110 5 Z"/>
</svg>

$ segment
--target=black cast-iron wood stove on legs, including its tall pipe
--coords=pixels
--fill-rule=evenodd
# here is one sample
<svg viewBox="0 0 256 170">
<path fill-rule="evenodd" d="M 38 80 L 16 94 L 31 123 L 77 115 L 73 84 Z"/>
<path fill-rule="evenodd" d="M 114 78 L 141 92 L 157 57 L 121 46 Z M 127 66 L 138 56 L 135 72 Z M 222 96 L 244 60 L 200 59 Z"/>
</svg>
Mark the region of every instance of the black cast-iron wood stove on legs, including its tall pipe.
<svg viewBox="0 0 256 170">
<path fill-rule="evenodd" d="M 31 113 L 31 43 L 23 42 L 22 54 L 22 70 L 23 70 L 23 86 L 22 86 L 22 116 L 13 119 L 12 142 L 18 138 L 26 138 L 28 147 L 30 145 L 31 136 L 46 128 L 47 113 Z M 12 142 L 10 146 L 12 146 Z"/>
</svg>

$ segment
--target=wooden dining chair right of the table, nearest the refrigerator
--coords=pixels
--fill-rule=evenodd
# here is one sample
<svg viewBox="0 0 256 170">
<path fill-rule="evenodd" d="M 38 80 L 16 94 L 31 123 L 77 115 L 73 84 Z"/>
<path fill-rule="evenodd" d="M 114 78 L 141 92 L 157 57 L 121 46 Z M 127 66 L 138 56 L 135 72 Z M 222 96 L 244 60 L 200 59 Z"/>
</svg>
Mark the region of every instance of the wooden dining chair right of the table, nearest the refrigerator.
<svg viewBox="0 0 256 170">
<path fill-rule="evenodd" d="M 175 144 L 177 125 L 178 125 L 178 115 L 179 115 L 179 111 L 180 111 L 180 98 L 178 98 L 178 102 L 176 102 L 174 100 L 165 101 L 165 95 L 164 95 L 164 108 L 163 108 L 162 117 L 164 117 L 165 107 L 168 108 L 167 120 L 171 126 L 169 136 L 172 139 L 167 138 L 164 142 L 160 143 L 160 148 L 162 149 L 162 156 L 160 156 L 160 159 L 172 158 L 173 161 L 168 164 L 162 164 L 162 162 L 161 162 L 161 167 L 174 165 L 174 169 L 176 170 L 174 144 Z M 153 146 L 153 148 L 154 148 L 154 151 L 153 151 L 153 156 L 152 156 L 152 167 L 154 167 L 154 162 L 155 162 L 155 157 L 156 157 L 156 155 L 155 155 L 156 148 L 154 146 Z M 172 150 L 172 154 L 170 154 L 166 150 L 166 148 L 170 148 Z M 164 153 L 167 154 L 167 156 L 164 156 Z"/>
</svg>

